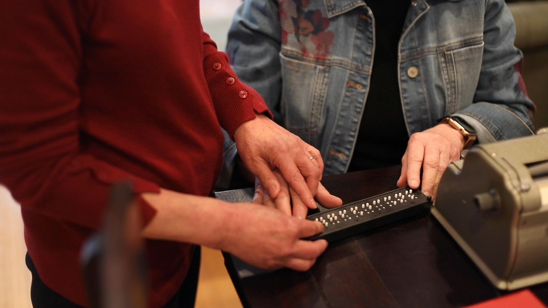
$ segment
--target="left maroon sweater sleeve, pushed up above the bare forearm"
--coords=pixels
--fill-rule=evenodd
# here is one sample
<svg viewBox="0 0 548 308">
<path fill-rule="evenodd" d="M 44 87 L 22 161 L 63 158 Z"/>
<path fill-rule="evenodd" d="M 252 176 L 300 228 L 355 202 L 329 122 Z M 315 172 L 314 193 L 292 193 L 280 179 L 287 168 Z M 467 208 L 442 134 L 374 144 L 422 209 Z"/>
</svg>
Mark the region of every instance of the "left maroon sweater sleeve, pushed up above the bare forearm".
<svg viewBox="0 0 548 308">
<path fill-rule="evenodd" d="M 132 180 L 135 193 L 159 187 L 80 150 L 83 51 L 71 10 L 44 1 L 0 5 L 0 183 L 25 210 L 96 229 L 110 184 Z M 138 202 L 146 224 L 155 209 Z"/>
</svg>

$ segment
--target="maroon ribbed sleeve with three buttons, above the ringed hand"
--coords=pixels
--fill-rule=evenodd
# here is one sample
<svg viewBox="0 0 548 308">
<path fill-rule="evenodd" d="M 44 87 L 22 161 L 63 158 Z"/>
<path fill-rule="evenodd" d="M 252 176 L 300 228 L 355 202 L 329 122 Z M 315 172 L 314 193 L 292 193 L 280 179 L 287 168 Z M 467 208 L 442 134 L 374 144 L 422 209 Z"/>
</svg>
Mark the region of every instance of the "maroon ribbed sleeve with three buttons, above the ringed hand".
<svg viewBox="0 0 548 308">
<path fill-rule="evenodd" d="M 240 125 L 255 118 L 255 112 L 266 113 L 272 119 L 272 113 L 259 93 L 239 81 L 226 54 L 217 50 L 217 45 L 206 32 L 202 31 L 202 37 L 204 75 L 221 127 L 232 138 Z"/>
</svg>

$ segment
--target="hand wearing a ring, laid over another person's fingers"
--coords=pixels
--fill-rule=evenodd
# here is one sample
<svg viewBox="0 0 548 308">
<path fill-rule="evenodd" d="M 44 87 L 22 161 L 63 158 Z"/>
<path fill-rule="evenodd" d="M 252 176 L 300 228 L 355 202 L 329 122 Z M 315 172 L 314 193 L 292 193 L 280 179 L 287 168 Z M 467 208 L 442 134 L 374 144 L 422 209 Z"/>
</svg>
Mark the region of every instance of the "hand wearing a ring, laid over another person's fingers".
<svg viewBox="0 0 548 308">
<path fill-rule="evenodd" d="M 264 115 L 238 127 L 234 140 L 242 161 L 272 199 L 277 199 L 282 191 L 281 182 L 272 172 L 277 168 L 306 207 L 317 207 L 313 197 L 322 178 L 323 160 L 315 147 Z"/>
</svg>

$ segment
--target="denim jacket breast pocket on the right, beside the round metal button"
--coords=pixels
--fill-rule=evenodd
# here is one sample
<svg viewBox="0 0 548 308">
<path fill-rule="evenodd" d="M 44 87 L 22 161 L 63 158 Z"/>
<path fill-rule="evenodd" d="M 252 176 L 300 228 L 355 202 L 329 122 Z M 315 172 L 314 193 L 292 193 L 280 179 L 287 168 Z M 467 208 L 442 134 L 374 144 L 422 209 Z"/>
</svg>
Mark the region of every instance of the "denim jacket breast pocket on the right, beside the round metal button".
<svg viewBox="0 0 548 308">
<path fill-rule="evenodd" d="M 483 42 L 438 54 L 446 90 L 444 115 L 451 115 L 470 106 L 481 72 Z"/>
</svg>

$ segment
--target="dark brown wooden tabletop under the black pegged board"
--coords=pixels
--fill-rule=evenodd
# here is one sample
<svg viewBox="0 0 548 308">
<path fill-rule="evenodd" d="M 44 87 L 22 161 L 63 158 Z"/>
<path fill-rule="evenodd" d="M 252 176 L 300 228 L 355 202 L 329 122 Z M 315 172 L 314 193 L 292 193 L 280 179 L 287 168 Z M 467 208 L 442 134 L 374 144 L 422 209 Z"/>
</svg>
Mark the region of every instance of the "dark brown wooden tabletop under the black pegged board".
<svg viewBox="0 0 548 308">
<path fill-rule="evenodd" d="M 396 189 L 398 176 L 399 167 L 389 167 L 322 183 L 350 203 Z M 431 215 L 332 243 L 307 272 L 247 270 L 230 255 L 225 264 L 245 307 L 463 307 L 507 293 L 489 283 Z M 548 304 L 548 283 L 530 289 Z"/>
</svg>

